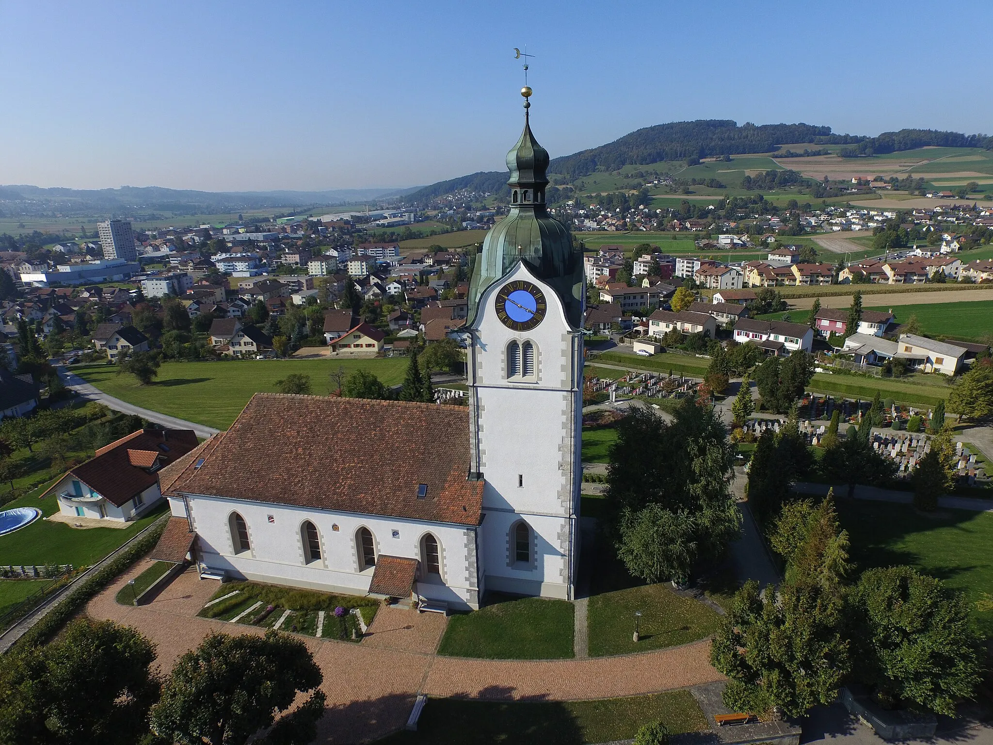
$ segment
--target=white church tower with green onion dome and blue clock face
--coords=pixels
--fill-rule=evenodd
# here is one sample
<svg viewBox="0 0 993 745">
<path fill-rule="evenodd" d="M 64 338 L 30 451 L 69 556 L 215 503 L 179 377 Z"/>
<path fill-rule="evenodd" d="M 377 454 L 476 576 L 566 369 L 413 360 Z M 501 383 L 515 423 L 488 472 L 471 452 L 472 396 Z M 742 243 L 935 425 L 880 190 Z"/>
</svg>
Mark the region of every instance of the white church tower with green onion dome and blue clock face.
<svg viewBox="0 0 993 745">
<path fill-rule="evenodd" d="M 469 291 L 472 468 L 485 481 L 484 586 L 573 598 L 583 408 L 582 252 L 545 207 L 548 151 L 524 130 L 507 153 L 509 215 L 487 234 Z"/>
</svg>

